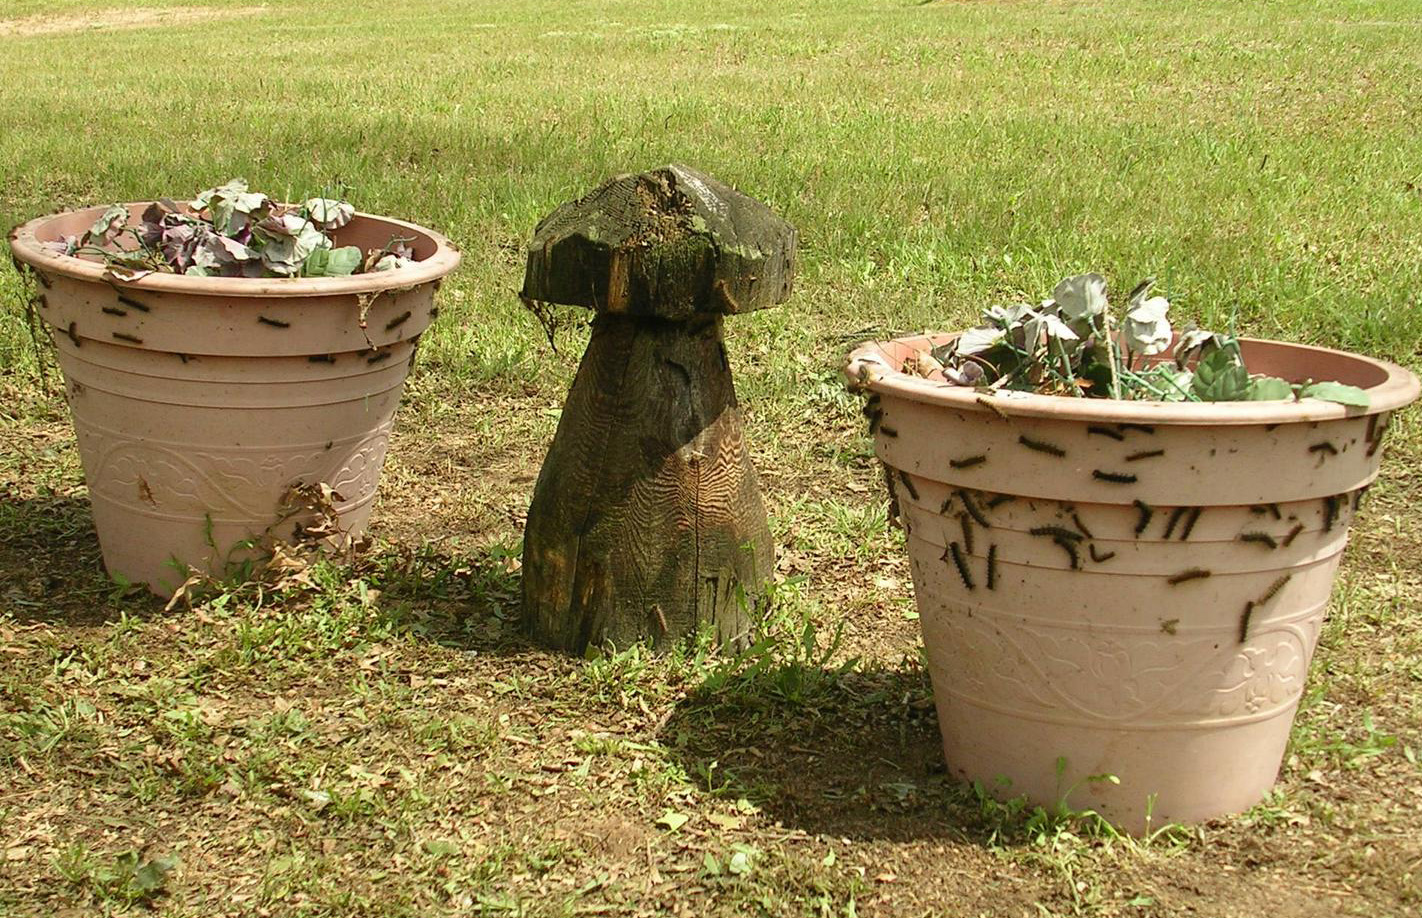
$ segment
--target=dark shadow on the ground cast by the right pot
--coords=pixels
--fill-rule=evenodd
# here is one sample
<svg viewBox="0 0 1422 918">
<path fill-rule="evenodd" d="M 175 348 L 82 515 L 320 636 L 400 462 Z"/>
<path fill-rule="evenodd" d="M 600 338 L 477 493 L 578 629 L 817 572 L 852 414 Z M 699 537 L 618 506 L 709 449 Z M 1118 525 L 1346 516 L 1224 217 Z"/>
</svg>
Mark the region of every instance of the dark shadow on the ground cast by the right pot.
<svg viewBox="0 0 1422 918">
<path fill-rule="evenodd" d="M 693 780 L 791 828 L 855 840 L 975 838 L 971 790 L 946 774 L 927 675 L 778 666 L 701 689 L 661 730 Z"/>
</svg>

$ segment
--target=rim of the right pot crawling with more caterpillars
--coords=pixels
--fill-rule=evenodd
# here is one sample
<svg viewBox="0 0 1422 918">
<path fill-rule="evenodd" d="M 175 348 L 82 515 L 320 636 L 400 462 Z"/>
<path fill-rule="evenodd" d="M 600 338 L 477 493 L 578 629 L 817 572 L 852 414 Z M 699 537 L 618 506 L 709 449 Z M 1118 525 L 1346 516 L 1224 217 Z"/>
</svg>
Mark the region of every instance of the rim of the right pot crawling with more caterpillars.
<svg viewBox="0 0 1422 918">
<path fill-rule="evenodd" d="M 845 378 L 850 388 L 865 388 L 880 395 L 893 395 L 924 405 L 939 405 L 975 412 L 994 412 L 1021 418 L 1047 418 L 1082 422 L 1125 423 L 1298 423 L 1362 418 L 1402 408 L 1416 401 L 1422 382 L 1409 369 L 1388 361 L 1362 357 L 1349 351 L 1291 344 L 1267 338 L 1240 338 L 1244 345 L 1290 348 L 1308 354 L 1357 361 L 1362 368 L 1382 372 L 1384 379 L 1368 387 L 1368 408 L 1348 408 L 1337 402 L 1305 398 L 1297 402 L 1156 402 L 1105 398 L 1072 398 L 1069 395 L 1041 395 L 1037 392 L 984 392 L 913 377 L 899 369 L 887 357 L 887 345 L 927 350 L 946 344 L 961 333 L 930 333 L 906 335 L 890 341 L 867 341 L 845 360 Z"/>
</svg>

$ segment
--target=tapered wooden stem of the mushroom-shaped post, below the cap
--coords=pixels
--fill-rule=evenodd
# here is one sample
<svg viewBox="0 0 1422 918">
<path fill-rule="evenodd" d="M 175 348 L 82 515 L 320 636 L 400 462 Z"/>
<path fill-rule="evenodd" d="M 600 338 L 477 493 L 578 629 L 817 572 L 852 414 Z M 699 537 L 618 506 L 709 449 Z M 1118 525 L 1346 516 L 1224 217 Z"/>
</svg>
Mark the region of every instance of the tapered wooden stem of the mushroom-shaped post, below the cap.
<svg viewBox="0 0 1422 918">
<path fill-rule="evenodd" d="M 735 642 L 772 563 L 720 317 L 600 315 L 529 509 L 529 631 L 572 652 L 702 624 Z"/>
</svg>

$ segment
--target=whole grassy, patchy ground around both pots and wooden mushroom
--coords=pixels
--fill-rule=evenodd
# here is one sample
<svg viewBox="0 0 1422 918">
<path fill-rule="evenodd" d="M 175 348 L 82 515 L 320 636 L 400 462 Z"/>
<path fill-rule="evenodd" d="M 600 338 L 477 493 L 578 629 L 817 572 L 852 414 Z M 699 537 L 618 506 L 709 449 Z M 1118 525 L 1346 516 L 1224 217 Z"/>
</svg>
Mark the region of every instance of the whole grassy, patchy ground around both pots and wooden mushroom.
<svg viewBox="0 0 1422 918">
<path fill-rule="evenodd" d="M 127 9 L 125 9 L 127 7 Z M 853 341 L 1101 270 L 1422 365 L 1413 0 L 7 0 L 0 226 L 243 175 L 437 227 L 375 549 L 192 611 L 111 584 L 0 270 L 0 915 L 1422 914 L 1422 423 L 1394 426 L 1277 793 L 1149 841 L 943 774 Z M 586 341 L 523 244 L 680 161 L 801 230 L 728 325 L 769 665 L 542 652 L 523 513 Z M 7 260 L 6 260 L 7 261 Z"/>
</svg>

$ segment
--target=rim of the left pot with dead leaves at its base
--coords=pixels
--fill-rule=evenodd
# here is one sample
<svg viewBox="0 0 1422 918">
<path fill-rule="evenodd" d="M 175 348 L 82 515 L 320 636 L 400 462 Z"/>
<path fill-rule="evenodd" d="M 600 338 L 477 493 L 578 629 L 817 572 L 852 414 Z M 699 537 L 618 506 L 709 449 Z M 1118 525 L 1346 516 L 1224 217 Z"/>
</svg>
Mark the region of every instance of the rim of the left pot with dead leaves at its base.
<svg viewBox="0 0 1422 918">
<path fill-rule="evenodd" d="M 122 205 L 129 210 L 146 207 L 148 200 L 128 202 Z M 137 280 L 124 280 L 108 273 L 100 261 L 90 261 L 73 254 L 50 252 L 40 243 L 46 225 L 65 216 L 77 213 L 94 213 L 94 217 L 104 212 L 104 206 L 80 207 L 78 210 L 64 210 L 36 217 L 10 230 L 10 250 L 18 261 L 41 271 L 50 271 L 75 280 L 117 284 L 132 290 L 151 290 L 161 293 L 182 293 L 196 296 L 226 296 L 226 297 L 319 297 L 337 294 L 381 293 L 398 287 L 418 287 L 429 281 L 439 280 L 459 266 L 459 249 L 445 236 L 405 220 L 380 216 L 374 213 L 357 212 L 354 219 L 374 220 L 391 227 L 411 230 L 425 236 L 435 243 L 435 250 L 429 257 L 419 259 L 411 266 L 371 274 L 351 274 L 348 277 L 192 277 L 188 274 L 165 274 L 154 271 Z M 394 234 L 394 233 L 392 233 Z"/>
</svg>

